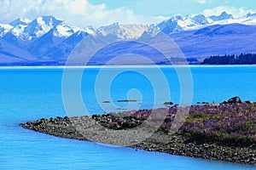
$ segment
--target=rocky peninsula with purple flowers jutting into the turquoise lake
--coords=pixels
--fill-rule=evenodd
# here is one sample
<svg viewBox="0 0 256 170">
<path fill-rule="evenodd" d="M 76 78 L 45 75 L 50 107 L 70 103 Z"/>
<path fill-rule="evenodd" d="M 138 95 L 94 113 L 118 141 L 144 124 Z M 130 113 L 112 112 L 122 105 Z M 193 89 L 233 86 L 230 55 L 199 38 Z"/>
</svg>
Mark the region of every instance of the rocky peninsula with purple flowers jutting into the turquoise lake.
<svg viewBox="0 0 256 170">
<path fill-rule="evenodd" d="M 154 111 L 51 117 L 20 126 L 62 138 L 256 166 L 256 103 L 235 97 L 222 104 L 184 107 L 189 114 L 173 132 L 178 109 L 173 105 Z M 151 114 L 157 116 L 148 121 Z"/>
</svg>

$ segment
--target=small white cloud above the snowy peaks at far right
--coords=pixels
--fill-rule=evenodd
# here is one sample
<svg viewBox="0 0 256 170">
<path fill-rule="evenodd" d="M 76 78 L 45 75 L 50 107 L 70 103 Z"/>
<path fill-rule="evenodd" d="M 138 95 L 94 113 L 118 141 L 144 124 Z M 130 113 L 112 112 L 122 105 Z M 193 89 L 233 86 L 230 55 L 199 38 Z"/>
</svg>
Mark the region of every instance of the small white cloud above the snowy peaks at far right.
<svg viewBox="0 0 256 170">
<path fill-rule="evenodd" d="M 212 9 L 206 9 L 202 12 L 202 14 L 205 14 L 206 16 L 219 15 L 224 11 L 227 12 L 228 14 L 232 14 L 235 18 L 241 17 L 245 14 L 248 14 L 249 12 L 254 12 L 253 10 L 246 9 L 246 8 L 219 6 L 219 7 L 212 8 Z"/>
</svg>

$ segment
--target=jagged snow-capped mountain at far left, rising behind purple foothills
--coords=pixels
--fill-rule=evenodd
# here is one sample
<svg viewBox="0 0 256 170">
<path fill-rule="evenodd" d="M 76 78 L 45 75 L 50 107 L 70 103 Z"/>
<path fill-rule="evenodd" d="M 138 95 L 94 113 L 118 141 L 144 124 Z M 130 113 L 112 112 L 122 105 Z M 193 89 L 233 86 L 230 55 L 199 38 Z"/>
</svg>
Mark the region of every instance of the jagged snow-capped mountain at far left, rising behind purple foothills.
<svg viewBox="0 0 256 170">
<path fill-rule="evenodd" d="M 92 27 L 78 28 L 53 16 L 42 16 L 35 20 L 17 19 L 9 25 L 1 25 L 0 30 L 0 38 L 5 42 L 26 50 L 36 59 L 48 60 L 67 57 L 83 37 L 89 33 L 98 34 Z M 76 37 L 78 32 L 79 37 Z M 76 37 L 76 40 L 68 42 L 72 37 Z"/>
</svg>

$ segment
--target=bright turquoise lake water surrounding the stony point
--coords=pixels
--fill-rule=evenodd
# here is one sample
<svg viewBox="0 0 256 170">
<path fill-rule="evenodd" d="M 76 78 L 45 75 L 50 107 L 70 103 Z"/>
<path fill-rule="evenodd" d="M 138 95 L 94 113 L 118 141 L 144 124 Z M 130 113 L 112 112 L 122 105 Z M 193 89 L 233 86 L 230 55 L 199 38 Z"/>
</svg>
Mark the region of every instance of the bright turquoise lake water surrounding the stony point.
<svg viewBox="0 0 256 170">
<path fill-rule="evenodd" d="M 119 68 L 120 69 L 120 68 Z M 140 68 L 154 74 L 152 68 Z M 73 69 L 76 74 L 78 69 Z M 104 74 L 109 75 L 105 70 Z M 222 102 L 233 96 L 256 100 L 256 66 L 192 66 L 193 100 Z M 42 117 L 66 116 L 61 96 L 63 68 L 1 68 L 0 69 L 0 168 L 1 169 L 255 169 L 255 167 L 206 161 L 184 156 L 133 150 L 126 147 L 109 147 L 86 141 L 61 139 L 19 127 L 20 122 Z M 81 93 L 90 114 L 102 113 L 95 96 L 95 80 L 99 68 L 84 72 Z M 162 71 L 171 88 L 171 99 L 180 100 L 180 82 L 172 67 Z M 103 83 L 104 84 L 104 83 Z M 143 99 L 134 107 L 149 108 L 154 103 L 154 87 L 150 80 L 136 71 L 125 71 L 113 79 L 110 94 L 113 101 L 127 99 L 127 92 L 137 88 Z M 102 86 L 102 90 L 104 87 Z M 101 95 L 101 93 L 99 93 Z M 162 105 L 162 101 L 155 101 Z M 125 103 L 104 104 L 115 110 L 130 109 Z M 109 106 L 108 106 L 109 105 Z"/>
</svg>

